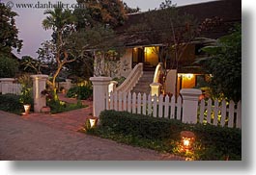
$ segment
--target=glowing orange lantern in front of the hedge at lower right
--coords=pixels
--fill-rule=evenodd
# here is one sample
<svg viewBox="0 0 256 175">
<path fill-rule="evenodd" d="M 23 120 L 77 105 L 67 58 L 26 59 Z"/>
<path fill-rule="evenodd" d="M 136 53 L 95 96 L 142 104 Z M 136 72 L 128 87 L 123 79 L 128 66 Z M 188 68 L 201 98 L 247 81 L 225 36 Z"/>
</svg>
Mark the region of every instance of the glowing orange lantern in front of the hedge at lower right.
<svg viewBox="0 0 256 175">
<path fill-rule="evenodd" d="M 181 132 L 182 137 L 182 145 L 184 150 L 189 150 L 192 148 L 193 143 L 195 141 L 195 134 L 193 132 L 189 131 L 183 131 Z"/>
</svg>

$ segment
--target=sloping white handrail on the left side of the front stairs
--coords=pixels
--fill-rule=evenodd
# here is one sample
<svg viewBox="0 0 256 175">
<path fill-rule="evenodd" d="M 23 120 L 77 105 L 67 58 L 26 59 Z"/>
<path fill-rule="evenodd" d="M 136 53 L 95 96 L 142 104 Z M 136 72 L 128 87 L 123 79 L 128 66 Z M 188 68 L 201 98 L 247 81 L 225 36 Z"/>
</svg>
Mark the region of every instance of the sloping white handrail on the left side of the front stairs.
<svg viewBox="0 0 256 175">
<path fill-rule="evenodd" d="M 116 88 L 116 91 L 129 92 L 138 83 L 140 77 L 143 74 L 143 63 L 138 63 L 132 71 L 129 73 L 126 81 Z"/>
</svg>

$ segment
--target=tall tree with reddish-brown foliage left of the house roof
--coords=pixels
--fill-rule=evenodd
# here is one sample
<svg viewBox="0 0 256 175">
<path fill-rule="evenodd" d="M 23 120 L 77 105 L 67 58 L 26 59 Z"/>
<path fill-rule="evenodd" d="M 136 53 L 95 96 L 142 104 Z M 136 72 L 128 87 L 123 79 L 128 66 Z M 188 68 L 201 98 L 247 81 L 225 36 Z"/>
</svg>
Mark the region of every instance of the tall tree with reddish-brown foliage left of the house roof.
<svg viewBox="0 0 256 175">
<path fill-rule="evenodd" d="M 124 23 L 127 18 L 128 6 L 120 0 L 81 0 L 78 3 L 83 4 L 86 9 L 76 9 L 74 11 L 77 17 L 76 30 L 80 35 L 86 36 L 86 34 L 89 34 L 87 39 L 90 43 L 90 49 L 88 50 L 93 51 L 87 54 L 91 58 L 87 57 L 86 63 L 90 63 L 88 60 L 95 60 L 94 73 L 96 76 L 110 75 L 111 73 L 108 70 L 106 71 L 106 67 L 110 67 L 108 65 L 113 65 L 117 62 L 108 59 L 109 52 L 119 52 L 124 46 L 116 37 L 113 28 Z M 86 53 L 88 52 L 85 52 L 84 55 Z M 110 72 L 112 72 L 112 69 Z"/>
</svg>

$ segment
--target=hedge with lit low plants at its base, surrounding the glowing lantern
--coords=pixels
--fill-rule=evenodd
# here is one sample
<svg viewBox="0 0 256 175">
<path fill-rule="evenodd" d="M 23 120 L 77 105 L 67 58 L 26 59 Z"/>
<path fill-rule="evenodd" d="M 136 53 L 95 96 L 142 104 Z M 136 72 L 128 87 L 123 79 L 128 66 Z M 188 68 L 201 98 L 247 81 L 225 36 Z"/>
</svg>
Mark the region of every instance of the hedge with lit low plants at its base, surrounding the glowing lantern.
<svg viewBox="0 0 256 175">
<path fill-rule="evenodd" d="M 196 142 L 192 152 L 181 152 L 182 131 L 192 131 Z M 100 127 L 92 134 L 128 144 L 169 152 L 194 160 L 242 160 L 242 131 L 210 124 L 184 124 L 128 112 L 100 113 Z"/>
</svg>

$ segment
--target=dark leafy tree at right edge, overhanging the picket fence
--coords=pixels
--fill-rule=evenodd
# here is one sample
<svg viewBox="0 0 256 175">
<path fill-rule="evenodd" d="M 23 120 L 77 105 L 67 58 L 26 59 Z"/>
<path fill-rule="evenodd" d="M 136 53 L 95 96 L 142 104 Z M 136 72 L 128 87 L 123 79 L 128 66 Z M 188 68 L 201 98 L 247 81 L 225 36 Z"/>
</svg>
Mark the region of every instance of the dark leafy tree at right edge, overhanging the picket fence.
<svg viewBox="0 0 256 175">
<path fill-rule="evenodd" d="M 199 60 L 206 73 L 212 74 L 213 95 L 238 102 L 242 99 L 242 26 L 232 34 L 218 38 L 214 46 L 202 49 L 210 57 Z"/>
</svg>

